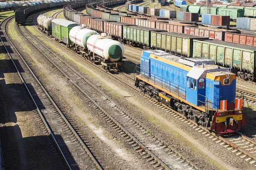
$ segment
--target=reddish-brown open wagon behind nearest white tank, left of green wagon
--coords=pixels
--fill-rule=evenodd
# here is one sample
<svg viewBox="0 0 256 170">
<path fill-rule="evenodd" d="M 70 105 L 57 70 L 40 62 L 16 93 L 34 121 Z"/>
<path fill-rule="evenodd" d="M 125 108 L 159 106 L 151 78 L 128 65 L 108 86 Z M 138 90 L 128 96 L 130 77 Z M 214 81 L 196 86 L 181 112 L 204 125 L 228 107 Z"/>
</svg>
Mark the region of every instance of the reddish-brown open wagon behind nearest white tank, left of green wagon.
<svg viewBox="0 0 256 170">
<path fill-rule="evenodd" d="M 121 22 L 104 22 L 104 32 L 111 34 L 112 38 L 121 40 L 123 34 L 123 26 L 133 26 L 128 23 Z"/>
</svg>

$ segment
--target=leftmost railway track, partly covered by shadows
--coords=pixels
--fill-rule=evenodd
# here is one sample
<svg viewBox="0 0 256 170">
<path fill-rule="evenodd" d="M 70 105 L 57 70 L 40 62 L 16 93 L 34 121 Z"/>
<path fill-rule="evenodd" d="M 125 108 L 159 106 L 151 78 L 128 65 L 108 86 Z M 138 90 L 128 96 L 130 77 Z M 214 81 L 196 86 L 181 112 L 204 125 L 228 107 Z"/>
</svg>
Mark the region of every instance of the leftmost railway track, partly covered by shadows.
<svg viewBox="0 0 256 170">
<path fill-rule="evenodd" d="M 6 25 L 4 31 L 6 32 Z M 9 57 L 12 59 L 21 80 L 37 108 L 38 114 L 40 114 L 68 169 L 77 169 L 80 167 L 79 165 L 83 166 L 84 162 L 86 162 L 90 169 L 102 170 L 102 167 L 96 161 L 93 154 L 90 153 L 90 150 L 86 147 L 79 134 L 76 133 L 76 130 L 73 129 L 66 119 L 63 111 L 61 111 L 47 92 L 47 89 L 44 88 L 44 85 L 35 76 L 29 64 L 26 63 L 25 59 L 17 51 L 8 35 L 5 34 L 5 36 L 8 42 L 3 44 L 5 46 L 12 46 L 15 49 L 13 53 L 9 54 Z"/>
</svg>

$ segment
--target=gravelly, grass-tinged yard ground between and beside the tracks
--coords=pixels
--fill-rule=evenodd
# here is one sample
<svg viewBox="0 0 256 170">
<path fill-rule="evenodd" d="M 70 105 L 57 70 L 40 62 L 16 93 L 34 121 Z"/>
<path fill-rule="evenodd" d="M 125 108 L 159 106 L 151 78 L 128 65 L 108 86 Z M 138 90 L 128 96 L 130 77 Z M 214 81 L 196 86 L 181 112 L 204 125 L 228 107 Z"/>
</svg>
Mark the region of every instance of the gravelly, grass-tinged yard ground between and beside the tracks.
<svg viewBox="0 0 256 170">
<path fill-rule="evenodd" d="M 57 11 L 60 11 L 60 9 L 48 11 L 47 14 L 53 15 Z M 13 13 L 6 13 L 4 15 L 11 16 L 12 14 Z M 9 35 L 21 56 L 24 57 L 24 60 L 26 60 L 35 76 L 40 80 L 44 88 L 47 89 L 49 95 L 52 96 L 58 108 L 64 112 L 68 122 L 70 122 L 79 134 L 83 143 L 89 148 L 91 153 L 93 153 L 102 169 L 155 170 L 157 168 L 148 162 L 151 157 L 147 156 L 144 152 L 142 153 L 140 149 L 137 148 L 137 145 L 134 145 L 133 141 L 126 138 L 122 130 L 113 128 L 115 126 L 112 126 L 111 120 L 105 118 L 100 109 L 97 108 L 84 93 L 79 91 L 76 85 L 82 87 L 82 90 L 87 93 L 99 90 L 102 91 L 107 97 L 115 101 L 116 104 L 109 101 L 109 104 L 104 104 L 102 101 L 107 101 L 106 96 L 99 97 L 96 96 L 96 94 L 95 96 L 92 94 L 91 97 L 96 100 L 95 102 L 102 102 L 103 104 L 101 106 L 104 107 L 106 111 L 113 111 L 111 109 L 117 108 L 117 105 L 121 106 L 125 111 L 131 113 L 146 127 L 150 128 L 155 134 L 204 170 L 256 169 L 256 163 L 253 162 L 253 159 L 247 160 L 248 157 L 242 157 L 244 154 L 228 146 L 219 140 L 218 137 L 201 130 L 201 128 L 190 121 L 183 119 L 182 116 L 177 116 L 175 112 L 149 99 L 148 96 L 141 94 L 139 91 L 134 90 L 134 88 L 129 86 L 129 84 L 134 83 L 132 79 L 120 81 L 119 79 L 113 78 L 113 76 L 118 77 L 121 76 L 121 74 L 112 73 L 112 76 L 110 73 L 99 69 L 97 65 L 82 59 L 77 54 L 68 50 L 64 45 L 55 42 L 53 38 L 46 37 L 46 35 L 38 31 L 33 24 L 36 15 L 37 14 L 32 14 L 32 16 L 27 18 L 25 27 L 20 26 L 21 31 L 19 31 L 18 26 L 12 19 L 7 24 L 6 33 Z M 2 15 L 0 14 L 0 16 Z M 58 18 L 63 18 L 62 12 L 58 14 Z M 2 19 L 0 18 L 0 20 Z M 31 35 L 38 39 L 38 42 L 32 40 L 32 36 L 26 33 L 25 28 Z M 1 26 L 1 30 L 3 31 L 3 26 Z M 4 37 L 2 31 L 0 35 Z M 65 77 L 55 65 L 50 63 L 26 37 L 31 38 L 30 40 L 35 44 L 39 45 L 39 42 L 41 42 L 49 48 L 52 54 L 44 51 L 45 55 L 52 57 L 52 61 L 55 65 L 58 65 L 61 71 L 65 74 L 70 74 L 70 79 Z M 3 41 L 6 42 L 7 40 L 5 39 Z M 12 51 L 11 54 L 16 53 L 15 49 L 11 46 L 9 46 L 8 49 Z M 138 58 L 137 62 L 134 62 L 134 59 L 125 55 L 126 65 L 123 74 L 127 75 L 127 77 L 134 77 L 134 68 L 135 65 L 140 62 L 139 57 L 141 52 L 142 50 L 140 48 L 125 45 L 125 54 Z M 62 62 L 54 56 L 59 57 Z M 15 57 L 15 61 L 20 64 L 21 73 L 25 72 L 21 64 L 22 61 L 17 55 Z M 70 65 L 74 71 L 70 68 L 65 68 L 63 66 L 65 64 Z M 80 77 L 77 78 L 76 72 L 99 90 L 88 85 L 89 83 L 85 80 L 81 80 Z M 24 76 L 24 78 L 26 77 Z M 76 85 L 72 84 L 72 81 L 75 81 Z M 32 82 L 32 85 L 33 83 L 34 82 Z M 238 79 L 237 86 L 241 89 L 246 89 L 248 92 L 254 92 L 256 84 Z M 36 94 L 39 96 L 39 93 L 35 93 L 35 97 L 37 96 Z M 116 110 L 119 111 L 120 109 L 117 108 Z M 248 100 L 248 102 L 245 102 L 244 110 L 247 126 L 242 127 L 241 133 L 256 140 L 256 101 Z M 116 114 L 114 116 L 117 117 L 115 118 L 117 120 L 118 116 L 122 116 L 123 119 L 129 119 L 128 116 L 123 114 Z M 130 128 L 127 122 L 122 122 L 121 124 L 127 124 L 127 128 Z M 63 130 L 67 129 L 64 128 Z M 63 134 L 60 131 L 62 130 L 56 131 L 55 134 L 57 138 L 62 139 L 61 135 Z M 145 134 L 146 133 L 147 131 Z M 17 74 L 1 42 L 0 134 L 4 163 L 7 170 L 66 169 L 66 165 L 58 148 L 52 141 L 49 131 L 41 120 L 31 97 L 26 91 L 23 82 Z M 140 140 L 143 141 L 144 139 L 145 142 L 146 139 L 149 140 L 151 138 L 151 135 L 152 134 L 149 134 L 147 138 Z M 233 138 L 233 136 L 231 136 L 231 138 Z M 79 153 L 81 155 L 76 153 L 76 148 L 74 147 L 80 147 L 80 145 L 79 142 L 73 143 L 72 141 L 73 138 L 69 141 L 60 142 L 63 144 L 62 147 L 71 148 L 70 153 L 64 151 L 64 155 L 69 155 L 67 156 L 68 159 L 73 159 L 71 158 L 72 156 L 76 157 L 75 160 L 72 160 L 72 162 L 74 162 L 72 169 L 96 169 L 93 165 L 84 163 L 83 160 L 80 159 L 87 155 L 87 153 L 85 150 Z M 151 148 L 153 146 L 149 144 L 146 147 Z M 165 147 L 162 149 L 165 149 Z M 166 152 L 171 157 L 173 153 L 169 152 L 167 149 L 168 148 L 166 148 Z M 151 150 L 154 151 L 154 149 Z M 72 154 L 73 152 L 75 155 Z M 161 152 L 159 152 L 159 154 L 164 155 L 164 153 Z M 176 161 L 178 160 L 180 160 L 180 158 L 177 158 Z M 183 167 L 176 168 L 186 169 Z"/>
</svg>

